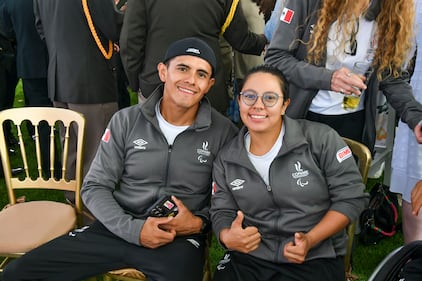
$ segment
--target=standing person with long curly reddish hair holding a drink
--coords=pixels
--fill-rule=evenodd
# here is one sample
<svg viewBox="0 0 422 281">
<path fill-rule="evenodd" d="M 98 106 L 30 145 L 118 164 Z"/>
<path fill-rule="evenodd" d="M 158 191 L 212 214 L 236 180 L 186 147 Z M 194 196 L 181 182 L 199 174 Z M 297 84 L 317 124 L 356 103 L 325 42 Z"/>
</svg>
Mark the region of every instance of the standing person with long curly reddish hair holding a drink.
<svg viewBox="0 0 422 281">
<path fill-rule="evenodd" d="M 326 123 L 373 151 L 381 91 L 422 143 L 422 105 L 402 69 L 413 19 L 412 0 L 287 0 L 265 57 L 290 82 L 287 115 Z M 360 97 L 353 108 L 344 103 L 352 95 Z"/>
</svg>

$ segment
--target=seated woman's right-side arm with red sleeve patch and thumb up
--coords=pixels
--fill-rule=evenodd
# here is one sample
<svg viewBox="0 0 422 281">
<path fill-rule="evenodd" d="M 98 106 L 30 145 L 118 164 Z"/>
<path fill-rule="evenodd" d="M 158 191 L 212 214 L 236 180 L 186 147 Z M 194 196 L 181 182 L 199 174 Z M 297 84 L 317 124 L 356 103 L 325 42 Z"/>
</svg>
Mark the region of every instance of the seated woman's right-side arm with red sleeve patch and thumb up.
<svg viewBox="0 0 422 281">
<path fill-rule="evenodd" d="M 286 259 L 293 263 L 304 262 L 310 249 L 357 219 L 368 203 L 355 159 L 345 150 L 347 145 L 333 129 L 322 132 L 310 145 L 325 175 L 331 205 L 311 230 L 295 233 L 294 241 L 284 247 Z"/>
</svg>

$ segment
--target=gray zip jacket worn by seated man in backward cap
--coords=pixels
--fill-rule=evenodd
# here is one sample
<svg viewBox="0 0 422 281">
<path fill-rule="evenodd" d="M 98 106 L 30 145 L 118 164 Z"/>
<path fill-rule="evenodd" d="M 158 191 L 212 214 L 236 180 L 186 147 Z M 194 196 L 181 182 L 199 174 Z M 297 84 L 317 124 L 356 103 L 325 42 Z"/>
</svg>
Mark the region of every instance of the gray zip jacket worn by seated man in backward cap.
<svg viewBox="0 0 422 281">
<path fill-rule="evenodd" d="M 208 219 L 212 163 L 237 132 L 204 98 L 194 124 L 169 146 L 155 114 L 161 96 L 159 87 L 142 106 L 113 116 L 81 190 L 93 215 L 134 244 L 147 210 L 161 195 L 175 195 Z"/>
</svg>

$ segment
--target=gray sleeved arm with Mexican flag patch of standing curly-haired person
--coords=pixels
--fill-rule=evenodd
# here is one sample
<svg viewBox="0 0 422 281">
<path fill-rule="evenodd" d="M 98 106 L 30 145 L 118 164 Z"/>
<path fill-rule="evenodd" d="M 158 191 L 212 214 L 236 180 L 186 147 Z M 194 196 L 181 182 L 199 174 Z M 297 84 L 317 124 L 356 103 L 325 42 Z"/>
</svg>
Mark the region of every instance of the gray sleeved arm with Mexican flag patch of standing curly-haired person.
<svg viewBox="0 0 422 281">
<path fill-rule="evenodd" d="M 265 54 L 265 63 L 280 69 L 290 83 L 304 89 L 331 89 L 332 70 L 304 61 L 311 30 L 309 21 L 316 20 L 319 1 L 287 0 L 284 11 L 292 12 L 289 20 L 279 20 Z M 283 14 L 281 12 L 281 17 Z"/>
</svg>

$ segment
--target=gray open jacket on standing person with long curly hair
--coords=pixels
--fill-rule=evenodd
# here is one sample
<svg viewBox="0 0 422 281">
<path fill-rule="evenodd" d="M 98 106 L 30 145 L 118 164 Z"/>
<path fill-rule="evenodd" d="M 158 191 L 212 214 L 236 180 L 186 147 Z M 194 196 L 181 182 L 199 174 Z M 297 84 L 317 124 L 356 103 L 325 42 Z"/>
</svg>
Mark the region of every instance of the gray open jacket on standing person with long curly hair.
<svg viewBox="0 0 422 281">
<path fill-rule="evenodd" d="M 318 90 L 331 89 L 333 70 L 325 68 L 325 60 L 321 65 L 309 64 L 305 61 L 307 45 L 313 26 L 317 21 L 320 0 L 288 0 L 287 9 L 294 12 L 291 22 L 280 21 L 273 34 L 265 55 L 265 63 L 283 71 L 290 82 L 289 93 L 291 103 L 286 114 L 293 118 L 304 118 Z M 378 1 L 373 1 L 366 18 L 374 20 L 379 13 Z M 418 103 L 408 83 L 409 75 L 394 78 L 384 75 L 380 81 L 375 69 L 368 80 L 365 94 L 365 126 L 361 142 L 374 151 L 378 94 L 380 91 L 396 110 L 397 116 L 413 128 L 422 120 L 422 105 Z"/>
</svg>

